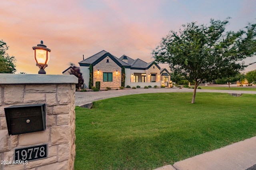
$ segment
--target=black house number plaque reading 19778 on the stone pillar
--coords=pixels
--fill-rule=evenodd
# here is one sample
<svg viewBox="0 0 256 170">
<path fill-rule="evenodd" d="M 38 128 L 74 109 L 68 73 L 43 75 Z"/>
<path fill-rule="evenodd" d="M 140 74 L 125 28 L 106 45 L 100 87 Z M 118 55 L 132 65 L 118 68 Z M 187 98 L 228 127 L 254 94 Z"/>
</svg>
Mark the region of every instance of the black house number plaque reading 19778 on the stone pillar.
<svg viewBox="0 0 256 170">
<path fill-rule="evenodd" d="M 15 161 L 32 161 L 47 158 L 48 143 L 14 150 Z"/>
</svg>

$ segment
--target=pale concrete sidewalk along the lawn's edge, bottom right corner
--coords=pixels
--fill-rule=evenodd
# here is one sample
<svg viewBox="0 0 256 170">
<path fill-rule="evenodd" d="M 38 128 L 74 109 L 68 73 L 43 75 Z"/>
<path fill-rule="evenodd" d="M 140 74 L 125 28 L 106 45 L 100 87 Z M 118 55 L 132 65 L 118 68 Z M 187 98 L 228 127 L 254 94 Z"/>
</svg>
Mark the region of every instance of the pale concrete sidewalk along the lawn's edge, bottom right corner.
<svg viewBox="0 0 256 170">
<path fill-rule="evenodd" d="M 246 170 L 256 164 L 256 137 L 156 170 Z M 251 170 L 255 169 L 252 168 Z"/>
</svg>

